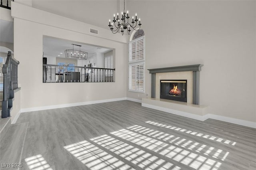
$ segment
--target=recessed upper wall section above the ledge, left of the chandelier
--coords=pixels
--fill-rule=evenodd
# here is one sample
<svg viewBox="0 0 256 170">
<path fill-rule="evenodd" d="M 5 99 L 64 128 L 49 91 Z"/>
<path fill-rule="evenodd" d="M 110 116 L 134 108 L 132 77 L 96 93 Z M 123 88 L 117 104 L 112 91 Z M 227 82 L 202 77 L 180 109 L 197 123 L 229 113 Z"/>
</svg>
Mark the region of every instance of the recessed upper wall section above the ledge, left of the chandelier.
<svg viewBox="0 0 256 170">
<path fill-rule="evenodd" d="M 108 29 L 108 20 L 112 19 L 114 12 L 117 13 L 119 9 L 118 1 L 32 0 L 32 6 L 40 10 Z"/>
</svg>

